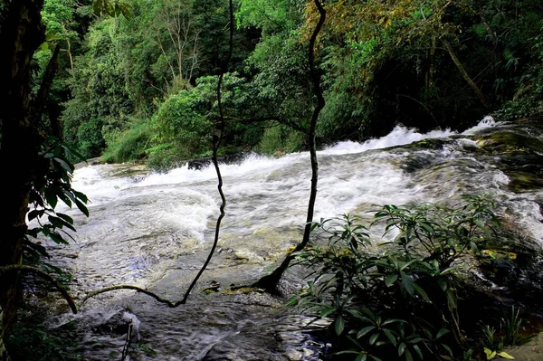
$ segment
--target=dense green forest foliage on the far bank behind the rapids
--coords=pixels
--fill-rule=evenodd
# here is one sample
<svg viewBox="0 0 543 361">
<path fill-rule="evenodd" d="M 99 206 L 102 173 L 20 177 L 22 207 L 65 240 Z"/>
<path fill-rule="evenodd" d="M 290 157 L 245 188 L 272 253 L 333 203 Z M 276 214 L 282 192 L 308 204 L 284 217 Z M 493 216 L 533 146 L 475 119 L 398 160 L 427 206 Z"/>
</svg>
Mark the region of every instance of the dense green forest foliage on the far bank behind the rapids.
<svg viewBox="0 0 543 361">
<path fill-rule="evenodd" d="M 186 117 L 195 111 L 206 118 L 201 121 L 214 122 L 213 112 L 194 109 L 208 106 L 210 94 L 193 88 L 220 67 L 225 3 L 133 0 L 129 17 L 96 18 L 82 42 L 84 7 L 71 0 L 45 4 L 48 28 L 68 47 L 61 59 L 70 59 L 64 66 L 70 75 L 59 84 L 70 84 L 71 99 L 55 95 L 52 104 L 64 109 L 70 144 L 86 157 L 108 148 L 110 161 L 150 157 L 157 166 L 160 159 L 176 164 L 205 156 L 200 146 L 174 144 L 179 132 L 190 130 L 179 129 L 182 120 L 172 128 L 161 114 L 184 113 L 188 105 L 180 100 L 189 97 L 193 115 Z M 52 16 L 60 5 L 62 12 Z M 227 110 L 225 151 L 305 147 L 294 139 L 308 131 L 314 101 L 306 47 L 317 11 L 295 0 L 234 5 L 230 71 L 243 85 Z M 327 100 L 319 116 L 320 144 L 383 135 L 397 123 L 466 128 L 485 114 L 509 119 L 541 113 L 543 9 L 537 0 L 333 0 L 325 6 L 317 52 Z M 62 94 L 65 99 L 66 87 Z"/>
</svg>

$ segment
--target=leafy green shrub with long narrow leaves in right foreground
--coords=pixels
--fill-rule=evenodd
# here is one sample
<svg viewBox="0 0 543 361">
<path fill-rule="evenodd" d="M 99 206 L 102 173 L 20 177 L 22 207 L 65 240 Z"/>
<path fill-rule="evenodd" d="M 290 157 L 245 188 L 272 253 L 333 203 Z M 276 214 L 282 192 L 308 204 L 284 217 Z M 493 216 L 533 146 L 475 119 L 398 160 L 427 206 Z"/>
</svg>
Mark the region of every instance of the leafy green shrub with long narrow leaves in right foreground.
<svg viewBox="0 0 543 361">
<path fill-rule="evenodd" d="M 443 359 L 461 354 L 462 262 L 493 237 L 498 220 L 486 196 L 455 207 L 385 205 L 368 226 L 344 214 L 313 228 L 328 237 L 297 255 L 312 270 L 290 305 L 331 320 L 339 355 L 357 360 Z M 377 244 L 370 229 L 394 238 Z"/>
</svg>

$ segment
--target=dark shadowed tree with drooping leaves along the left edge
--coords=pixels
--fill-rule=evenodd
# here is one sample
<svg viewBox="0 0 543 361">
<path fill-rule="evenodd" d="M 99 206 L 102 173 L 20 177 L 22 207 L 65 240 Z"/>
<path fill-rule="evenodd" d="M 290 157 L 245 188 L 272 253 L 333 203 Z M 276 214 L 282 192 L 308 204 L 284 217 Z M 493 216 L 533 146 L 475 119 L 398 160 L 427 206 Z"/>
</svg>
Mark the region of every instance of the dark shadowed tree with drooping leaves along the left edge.
<svg viewBox="0 0 543 361">
<path fill-rule="evenodd" d="M 109 0 L 100 0 L 97 8 L 104 5 L 115 9 L 120 4 L 119 1 L 112 5 Z M 3 183 L 3 216 L 0 217 L 2 339 L 14 322 L 21 298 L 19 271 L 24 268 L 21 262 L 29 231 L 26 224 L 28 204 L 49 203 L 54 208 L 52 203 L 61 198 L 66 203 L 73 201 L 79 207 L 81 200 L 86 200 L 84 195 L 72 192 L 68 178 L 50 172 L 52 164 L 56 164 L 53 168 L 60 167 L 65 172 L 73 168 L 62 154 L 52 151 L 48 142 L 51 128 L 43 128 L 41 124 L 45 100 L 57 68 L 58 50 L 53 52 L 38 90 L 33 93 L 33 55 L 45 41 L 42 10 L 43 0 L 0 1 L 0 46 L 3 49 L 0 56 L 0 99 L 9 104 L 0 107 L 0 166 L 10 172 Z M 52 186 L 49 191 L 53 193 L 46 195 L 45 188 L 49 186 Z M 85 209 L 84 206 L 81 208 Z M 53 228 L 45 232 L 51 233 L 54 228 L 53 224 Z"/>
</svg>

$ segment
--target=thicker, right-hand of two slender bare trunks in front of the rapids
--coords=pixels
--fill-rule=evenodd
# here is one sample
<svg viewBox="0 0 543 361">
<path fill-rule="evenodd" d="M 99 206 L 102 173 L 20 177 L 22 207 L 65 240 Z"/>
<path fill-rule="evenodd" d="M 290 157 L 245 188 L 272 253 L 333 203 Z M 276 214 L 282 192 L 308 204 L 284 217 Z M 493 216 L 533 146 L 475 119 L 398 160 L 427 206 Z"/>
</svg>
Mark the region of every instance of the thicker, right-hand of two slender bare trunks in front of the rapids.
<svg viewBox="0 0 543 361">
<path fill-rule="evenodd" d="M 262 277 L 258 280 L 254 286 L 262 288 L 271 293 L 277 293 L 277 284 L 281 280 L 282 274 L 284 271 L 289 268 L 291 261 L 294 259 L 294 252 L 303 250 L 308 243 L 310 242 L 310 233 L 311 233 L 311 223 L 313 222 L 313 211 L 315 209 L 315 200 L 317 199 L 317 183 L 319 180 L 319 163 L 317 160 L 317 147 L 315 144 L 315 133 L 317 128 L 317 119 L 319 119 L 320 110 L 324 108 L 325 100 L 322 96 L 322 91 L 320 90 L 320 74 L 317 69 L 315 69 L 315 43 L 317 41 L 317 36 L 319 35 L 320 29 L 326 20 L 326 10 L 320 4 L 319 0 L 314 0 L 317 9 L 319 10 L 319 22 L 313 30 L 310 38 L 309 44 L 309 53 L 308 61 L 310 63 L 310 76 L 311 82 L 313 85 L 313 92 L 317 97 L 317 106 L 313 109 L 313 114 L 310 119 L 310 131 L 309 131 L 309 142 L 310 142 L 310 162 L 311 162 L 311 190 L 310 190 L 310 200 L 308 204 L 308 214 L 306 219 L 306 225 L 303 233 L 303 238 L 301 242 L 296 246 L 296 248 L 281 262 L 281 265 L 276 268 L 271 274 Z"/>
</svg>

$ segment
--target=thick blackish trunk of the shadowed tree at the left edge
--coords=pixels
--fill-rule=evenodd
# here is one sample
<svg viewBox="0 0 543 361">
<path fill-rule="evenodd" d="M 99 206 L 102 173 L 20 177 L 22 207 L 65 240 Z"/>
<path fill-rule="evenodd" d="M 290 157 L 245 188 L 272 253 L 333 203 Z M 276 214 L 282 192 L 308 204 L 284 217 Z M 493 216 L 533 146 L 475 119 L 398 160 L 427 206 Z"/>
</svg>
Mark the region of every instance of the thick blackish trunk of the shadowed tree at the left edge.
<svg viewBox="0 0 543 361">
<path fill-rule="evenodd" d="M 0 99 L 4 104 L 0 107 L 0 169 L 9 175 L 2 188 L 0 267 L 21 262 L 33 165 L 42 140 L 33 119 L 30 69 L 33 53 L 45 38 L 42 7 L 43 0 L 6 2 L 0 24 Z M 19 276 L 14 272 L 0 283 L 4 311 L 0 337 L 13 324 L 20 295 Z"/>
</svg>

